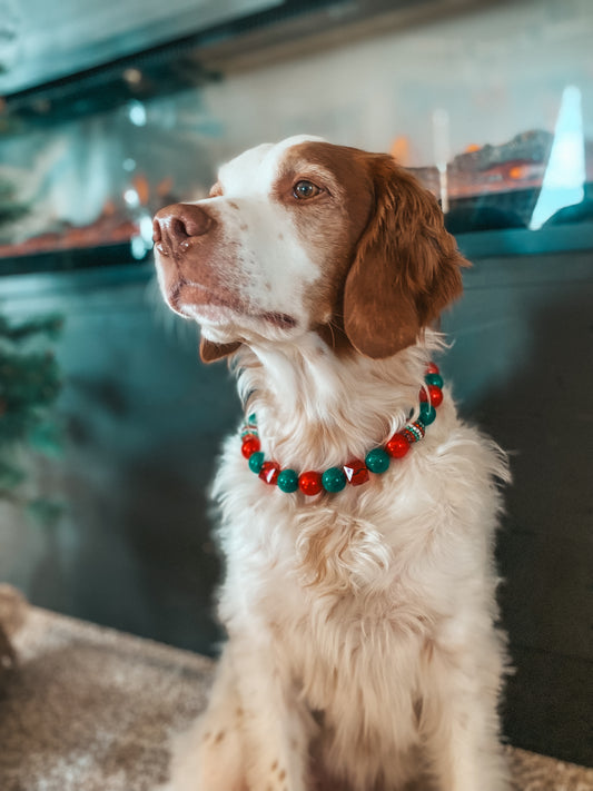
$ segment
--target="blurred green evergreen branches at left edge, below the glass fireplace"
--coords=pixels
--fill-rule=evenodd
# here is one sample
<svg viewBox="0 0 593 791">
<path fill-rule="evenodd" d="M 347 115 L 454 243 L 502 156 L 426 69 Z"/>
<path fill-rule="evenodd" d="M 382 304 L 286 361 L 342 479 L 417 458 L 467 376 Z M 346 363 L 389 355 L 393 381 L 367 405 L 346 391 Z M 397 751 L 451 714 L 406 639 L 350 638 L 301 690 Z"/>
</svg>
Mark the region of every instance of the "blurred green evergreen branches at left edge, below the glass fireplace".
<svg viewBox="0 0 593 791">
<path fill-rule="evenodd" d="M 0 315 L 0 500 L 43 523 L 55 522 L 61 506 L 26 493 L 26 461 L 31 452 L 57 456 L 62 449 L 52 411 L 61 376 L 51 349 L 62 323 L 60 316 L 13 323 Z"/>
</svg>

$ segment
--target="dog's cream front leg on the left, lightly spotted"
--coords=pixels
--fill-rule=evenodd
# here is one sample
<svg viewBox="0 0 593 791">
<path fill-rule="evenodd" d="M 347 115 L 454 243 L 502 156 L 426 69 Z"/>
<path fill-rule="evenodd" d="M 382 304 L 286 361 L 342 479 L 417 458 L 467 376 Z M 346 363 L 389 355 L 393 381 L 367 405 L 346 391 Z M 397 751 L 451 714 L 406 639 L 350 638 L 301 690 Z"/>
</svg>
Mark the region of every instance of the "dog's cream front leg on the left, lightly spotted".
<svg viewBox="0 0 593 791">
<path fill-rule="evenodd" d="M 314 722 L 271 640 L 233 636 L 249 791 L 305 791 Z"/>
</svg>

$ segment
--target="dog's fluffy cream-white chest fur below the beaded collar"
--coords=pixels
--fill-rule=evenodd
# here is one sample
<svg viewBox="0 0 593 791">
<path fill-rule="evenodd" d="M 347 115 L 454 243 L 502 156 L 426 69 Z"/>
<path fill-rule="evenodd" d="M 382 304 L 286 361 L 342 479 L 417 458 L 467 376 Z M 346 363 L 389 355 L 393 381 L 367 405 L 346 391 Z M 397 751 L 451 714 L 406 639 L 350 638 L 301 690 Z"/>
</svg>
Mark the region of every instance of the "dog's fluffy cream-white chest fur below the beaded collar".
<svg viewBox="0 0 593 791">
<path fill-rule="evenodd" d="M 490 550 L 501 475 L 500 453 L 451 404 L 380 483 L 329 502 L 297 504 L 248 469 L 237 438 L 227 445 L 216 483 L 229 563 L 221 619 L 231 641 L 267 644 L 303 716 L 320 719 L 332 764 L 362 787 L 374 771 L 365 753 L 397 744 L 399 778 L 417 762 L 431 688 L 448 683 L 446 659 L 428 672 L 435 653 L 463 662 L 482 641 L 496 693 Z"/>
</svg>

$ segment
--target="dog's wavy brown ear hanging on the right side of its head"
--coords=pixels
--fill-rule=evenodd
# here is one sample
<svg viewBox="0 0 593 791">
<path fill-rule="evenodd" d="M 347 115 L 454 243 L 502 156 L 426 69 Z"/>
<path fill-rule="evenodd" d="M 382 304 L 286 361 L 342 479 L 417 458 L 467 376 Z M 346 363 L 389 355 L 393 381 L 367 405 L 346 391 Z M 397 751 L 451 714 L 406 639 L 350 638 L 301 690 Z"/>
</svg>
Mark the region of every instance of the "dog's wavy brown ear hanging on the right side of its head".
<svg viewBox="0 0 593 791">
<path fill-rule="evenodd" d="M 415 343 L 462 293 L 468 263 L 445 230 L 436 198 L 392 157 L 369 158 L 375 207 L 344 290 L 344 328 L 367 357 Z"/>
</svg>

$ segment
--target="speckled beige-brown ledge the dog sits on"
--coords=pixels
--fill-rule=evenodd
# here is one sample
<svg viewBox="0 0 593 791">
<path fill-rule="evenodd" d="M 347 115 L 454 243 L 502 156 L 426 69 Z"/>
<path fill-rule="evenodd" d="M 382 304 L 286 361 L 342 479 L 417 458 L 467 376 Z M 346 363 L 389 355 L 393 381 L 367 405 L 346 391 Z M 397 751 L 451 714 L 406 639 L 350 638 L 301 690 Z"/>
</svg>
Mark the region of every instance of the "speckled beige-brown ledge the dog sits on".
<svg viewBox="0 0 593 791">
<path fill-rule="evenodd" d="M 28 607 L 0 700 L 1 791 L 150 791 L 213 662 Z M 593 769 L 508 748 L 516 791 L 593 791 Z"/>
</svg>

